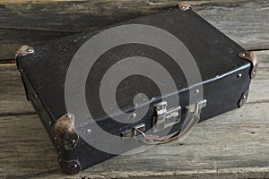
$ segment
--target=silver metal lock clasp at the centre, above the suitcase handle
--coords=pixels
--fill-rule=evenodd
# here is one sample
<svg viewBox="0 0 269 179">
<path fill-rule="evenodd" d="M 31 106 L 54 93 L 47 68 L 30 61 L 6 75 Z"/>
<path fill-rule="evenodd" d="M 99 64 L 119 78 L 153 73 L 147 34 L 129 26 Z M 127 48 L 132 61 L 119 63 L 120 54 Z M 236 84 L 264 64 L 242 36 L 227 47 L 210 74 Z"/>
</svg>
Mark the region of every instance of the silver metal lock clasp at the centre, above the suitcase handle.
<svg viewBox="0 0 269 179">
<path fill-rule="evenodd" d="M 167 110 L 167 102 L 163 101 L 154 107 L 153 132 L 158 132 L 174 124 L 178 124 L 181 119 L 181 107 Z"/>
</svg>

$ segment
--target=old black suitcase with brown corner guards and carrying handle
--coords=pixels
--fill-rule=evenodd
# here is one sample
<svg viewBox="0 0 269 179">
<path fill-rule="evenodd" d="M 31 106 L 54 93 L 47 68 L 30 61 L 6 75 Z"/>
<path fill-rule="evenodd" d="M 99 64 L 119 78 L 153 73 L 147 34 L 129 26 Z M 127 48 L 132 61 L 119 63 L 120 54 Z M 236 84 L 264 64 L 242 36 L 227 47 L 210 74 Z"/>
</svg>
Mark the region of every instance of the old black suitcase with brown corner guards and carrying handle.
<svg viewBox="0 0 269 179">
<path fill-rule="evenodd" d="M 16 62 L 67 174 L 183 140 L 199 120 L 241 107 L 257 67 L 188 4 L 22 46 Z"/>
</svg>

